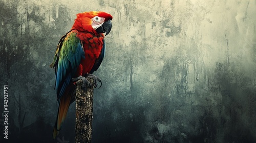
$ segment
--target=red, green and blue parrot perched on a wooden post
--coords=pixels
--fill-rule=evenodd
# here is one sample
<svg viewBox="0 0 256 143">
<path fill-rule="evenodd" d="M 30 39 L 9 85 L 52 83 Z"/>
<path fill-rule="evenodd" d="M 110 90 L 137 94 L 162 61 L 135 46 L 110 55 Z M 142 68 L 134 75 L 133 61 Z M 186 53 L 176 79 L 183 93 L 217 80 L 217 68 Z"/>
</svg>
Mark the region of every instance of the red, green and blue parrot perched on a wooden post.
<svg viewBox="0 0 256 143">
<path fill-rule="evenodd" d="M 76 14 L 71 30 L 62 36 L 50 67 L 55 70 L 58 113 L 53 129 L 55 139 L 65 121 L 69 106 L 75 101 L 75 82 L 81 79 L 82 88 L 91 86 L 86 77 L 94 78 L 94 86 L 101 80 L 92 75 L 105 55 L 104 36 L 112 28 L 112 15 L 102 11 Z M 100 84 L 101 86 L 101 84 Z"/>
</svg>

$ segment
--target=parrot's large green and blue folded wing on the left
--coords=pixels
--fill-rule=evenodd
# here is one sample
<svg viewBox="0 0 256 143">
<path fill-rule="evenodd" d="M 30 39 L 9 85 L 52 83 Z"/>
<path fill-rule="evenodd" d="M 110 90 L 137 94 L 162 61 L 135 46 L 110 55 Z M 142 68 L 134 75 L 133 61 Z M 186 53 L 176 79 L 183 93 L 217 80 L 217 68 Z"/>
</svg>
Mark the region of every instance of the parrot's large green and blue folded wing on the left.
<svg viewBox="0 0 256 143">
<path fill-rule="evenodd" d="M 55 68 L 57 101 L 59 101 L 63 92 L 70 84 L 81 62 L 81 58 L 85 58 L 82 43 L 76 36 L 77 33 L 77 30 L 72 30 L 61 37 L 54 60 L 50 65 L 50 67 Z"/>
</svg>

